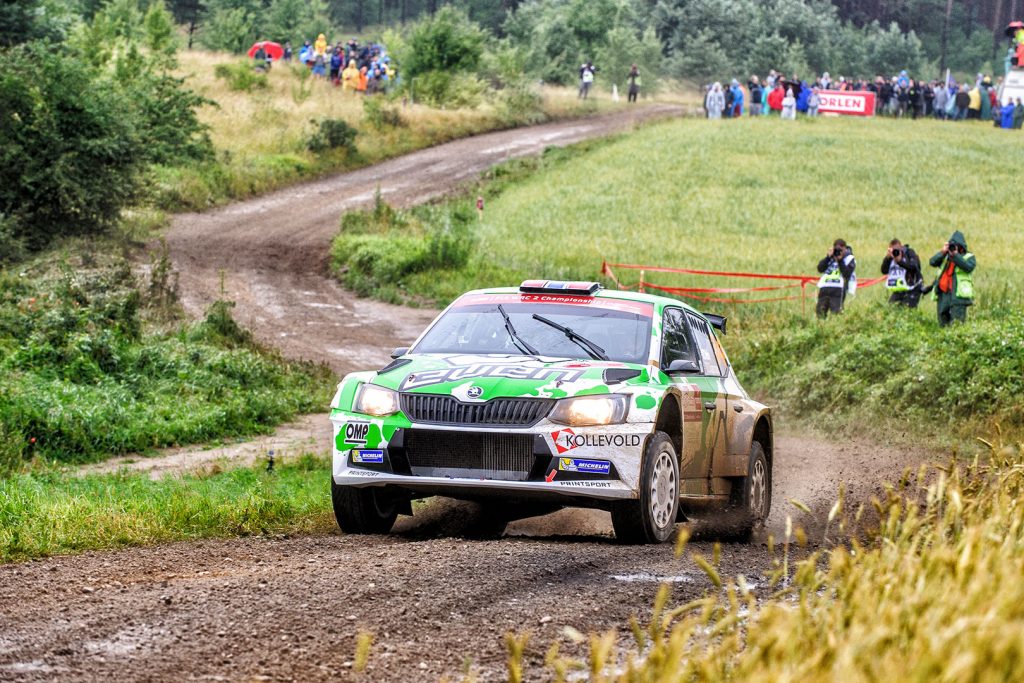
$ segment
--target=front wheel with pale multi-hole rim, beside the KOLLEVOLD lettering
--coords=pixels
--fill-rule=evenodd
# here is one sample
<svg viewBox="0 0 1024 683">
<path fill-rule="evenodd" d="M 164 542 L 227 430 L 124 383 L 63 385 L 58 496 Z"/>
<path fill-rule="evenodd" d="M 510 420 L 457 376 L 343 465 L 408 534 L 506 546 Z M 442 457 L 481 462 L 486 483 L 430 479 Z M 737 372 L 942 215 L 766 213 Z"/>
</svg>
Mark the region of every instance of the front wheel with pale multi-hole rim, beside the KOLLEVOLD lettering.
<svg viewBox="0 0 1024 683">
<path fill-rule="evenodd" d="M 640 466 L 640 500 L 613 507 L 611 524 L 621 543 L 664 543 L 678 516 L 679 456 L 668 434 L 654 432 Z"/>
</svg>

